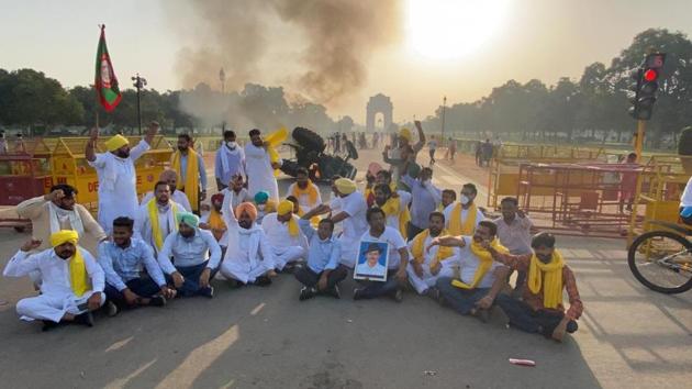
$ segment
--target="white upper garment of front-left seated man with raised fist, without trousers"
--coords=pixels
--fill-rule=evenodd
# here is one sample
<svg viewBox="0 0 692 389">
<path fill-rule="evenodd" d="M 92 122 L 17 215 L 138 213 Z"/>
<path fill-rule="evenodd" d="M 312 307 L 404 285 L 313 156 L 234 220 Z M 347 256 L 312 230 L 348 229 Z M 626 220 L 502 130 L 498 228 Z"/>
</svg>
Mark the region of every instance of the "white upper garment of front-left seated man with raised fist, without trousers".
<svg viewBox="0 0 692 389">
<path fill-rule="evenodd" d="M 87 274 L 91 280 L 92 291 L 103 291 L 105 276 L 101 266 L 93 259 L 86 249 L 78 247 L 81 257 L 85 259 Z M 2 273 L 5 277 L 23 277 L 32 271 L 40 271 L 41 292 L 46 296 L 69 296 L 74 294 L 70 276 L 69 260 L 63 259 L 55 254 L 55 249 L 47 248 L 35 254 L 16 252 L 12 259 L 4 267 Z"/>
</svg>

